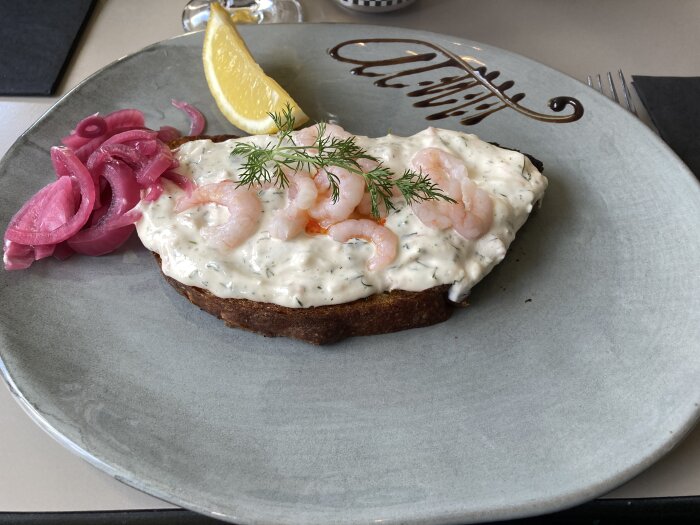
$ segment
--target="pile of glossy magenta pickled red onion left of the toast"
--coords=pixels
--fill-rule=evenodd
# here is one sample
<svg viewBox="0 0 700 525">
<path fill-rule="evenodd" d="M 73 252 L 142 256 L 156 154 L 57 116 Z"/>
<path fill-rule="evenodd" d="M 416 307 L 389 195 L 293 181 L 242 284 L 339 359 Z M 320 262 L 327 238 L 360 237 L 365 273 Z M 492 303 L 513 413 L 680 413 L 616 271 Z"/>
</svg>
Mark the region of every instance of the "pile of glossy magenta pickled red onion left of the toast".
<svg viewBox="0 0 700 525">
<path fill-rule="evenodd" d="M 173 105 L 190 117 L 190 134 L 204 131 L 204 116 L 196 108 L 178 101 Z M 135 229 L 141 217 L 138 202 L 160 196 L 161 178 L 192 192 L 192 181 L 172 171 L 178 162 L 165 144 L 180 132 L 171 126 L 159 131 L 144 126 L 144 115 L 136 109 L 105 117 L 96 113 L 61 139 L 66 147 L 51 149 L 57 180 L 11 219 L 4 237 L 5 269 L 28 268 L 50 255 L 62 260 L 74 252 L 109 253 Z"/>
</svg>

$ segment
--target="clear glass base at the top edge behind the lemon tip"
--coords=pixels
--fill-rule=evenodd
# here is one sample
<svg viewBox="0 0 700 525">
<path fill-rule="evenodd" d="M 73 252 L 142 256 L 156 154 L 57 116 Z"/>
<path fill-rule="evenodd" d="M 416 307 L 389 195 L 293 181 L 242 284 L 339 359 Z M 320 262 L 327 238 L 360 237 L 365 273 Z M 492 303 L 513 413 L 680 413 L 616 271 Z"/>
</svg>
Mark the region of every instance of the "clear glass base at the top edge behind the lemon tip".
<svg viewBox="0 0 700 525">
<path fill-rule="evenodd" d="M 275 24 L 302 22 L 298 0 L 219 0 L 238 24 Z M 191 0 L 182 11 L 185 31 L 204 29 L 209 20 L 209 0 Z"/>
</svg>

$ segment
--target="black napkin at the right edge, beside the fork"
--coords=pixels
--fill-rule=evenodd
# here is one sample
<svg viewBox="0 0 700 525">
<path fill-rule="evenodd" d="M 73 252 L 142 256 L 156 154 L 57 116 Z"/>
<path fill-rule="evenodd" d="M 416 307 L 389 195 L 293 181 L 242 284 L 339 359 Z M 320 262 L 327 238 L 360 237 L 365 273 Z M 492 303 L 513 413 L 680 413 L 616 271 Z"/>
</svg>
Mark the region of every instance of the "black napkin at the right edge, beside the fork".
<svg viewBox="0 0 700 525">
<path fill-rule="evenodd" d="M 632 80 L 661 138 L 700 178 L 700 77 Z"/>
</svg>

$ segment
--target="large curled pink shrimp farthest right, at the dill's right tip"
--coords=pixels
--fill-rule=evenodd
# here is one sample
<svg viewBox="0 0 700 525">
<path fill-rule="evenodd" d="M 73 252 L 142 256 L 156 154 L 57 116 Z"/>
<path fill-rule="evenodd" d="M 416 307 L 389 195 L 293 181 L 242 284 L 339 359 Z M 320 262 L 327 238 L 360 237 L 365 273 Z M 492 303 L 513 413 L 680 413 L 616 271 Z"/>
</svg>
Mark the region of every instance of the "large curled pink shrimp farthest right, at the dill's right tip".
<svg viewBox="0 0 700 525">
<path fill-rule="evenodd" d="M 456 202 L 429 200 L 411 205 L 423 224 L 444 230 L 453 227 L 469 240 L 484 235 L 493 222 L 493 201 L 469 178 L 466 165 L 438 148 L 424 148 L 411 160 Z"/>
</svg>

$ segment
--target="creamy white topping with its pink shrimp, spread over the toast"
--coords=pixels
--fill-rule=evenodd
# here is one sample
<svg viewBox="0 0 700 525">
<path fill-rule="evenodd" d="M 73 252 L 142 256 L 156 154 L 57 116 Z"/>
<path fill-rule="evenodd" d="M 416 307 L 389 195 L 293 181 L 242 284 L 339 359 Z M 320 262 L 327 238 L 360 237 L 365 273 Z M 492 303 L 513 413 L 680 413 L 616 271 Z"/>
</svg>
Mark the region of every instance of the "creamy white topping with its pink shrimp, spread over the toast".
<svg viewBox="0 0 700 525">
<path fill-rule="evenodd" d="M 297 143 L 313 142 L 309 129 L 297 132 Z M 329 126 L 327 133 L 346 132 Z M 397 176 L 420 169 L 456 201 L 410 206 L 398 196 L 396 211 L 374 220 L 362 177 L 342 170 L 336 203 L 325 173 L 289 173 L 288 189 L 238 188 L 243 159 L 230 155 L 235 143 L 270 140 L 179 148 L 178 171 L 196 190 L 187 196 L 166 181 L 159 199 L 141 202 L 137 223 L 167 275 L 222 298 L 292 308 L 439 285 L 461 301 L 503 259 L 547 187 L 527 157 L 474 135 L 429 128 L 412 137 L 357 136 Z"/>
</svg>

